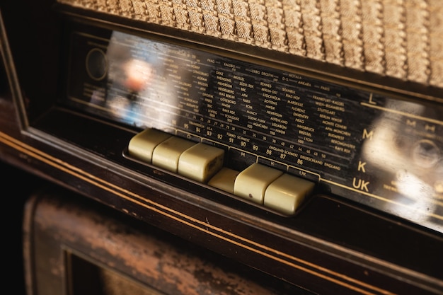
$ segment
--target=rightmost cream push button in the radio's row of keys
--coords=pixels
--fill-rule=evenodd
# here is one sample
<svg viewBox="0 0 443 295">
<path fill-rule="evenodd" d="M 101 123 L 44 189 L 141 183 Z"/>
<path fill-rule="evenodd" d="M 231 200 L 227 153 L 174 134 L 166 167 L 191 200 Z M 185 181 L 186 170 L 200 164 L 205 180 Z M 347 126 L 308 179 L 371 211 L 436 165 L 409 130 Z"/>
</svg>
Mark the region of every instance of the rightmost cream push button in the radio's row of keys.
<svg viewBox="0 0 443 295">
<path fill-rule="evenodd" d="M 265 191 L 264 205 L 286 215 L 293 215 L 314 183 L 309 180 L 283 174 L 274 180 Z"/>
</svg>

